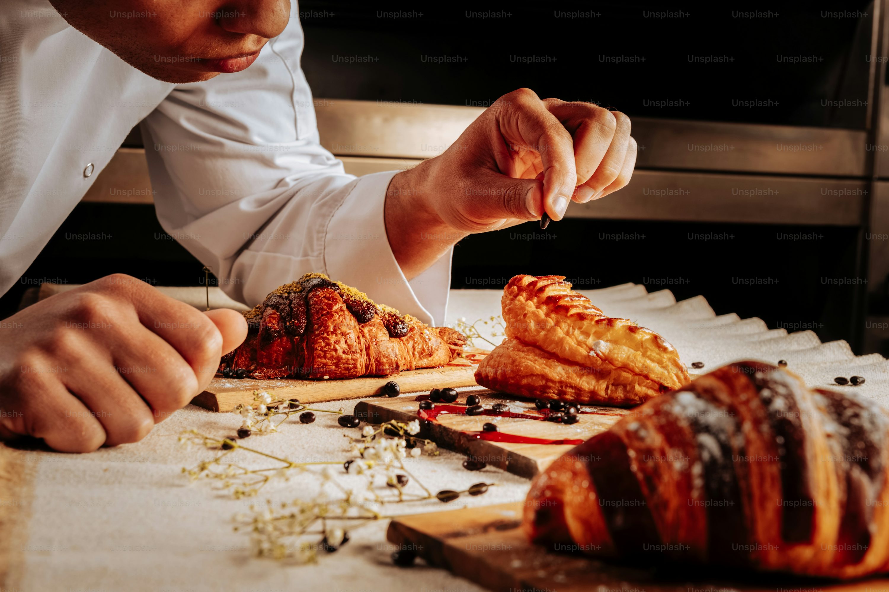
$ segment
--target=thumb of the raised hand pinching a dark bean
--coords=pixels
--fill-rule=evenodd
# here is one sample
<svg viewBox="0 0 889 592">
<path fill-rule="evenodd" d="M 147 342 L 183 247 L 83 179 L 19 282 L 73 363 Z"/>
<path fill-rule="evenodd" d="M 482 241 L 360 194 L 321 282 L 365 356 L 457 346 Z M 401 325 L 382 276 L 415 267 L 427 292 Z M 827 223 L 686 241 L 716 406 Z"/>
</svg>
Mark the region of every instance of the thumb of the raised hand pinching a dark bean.
<svg viewBox="0 0 889 592">
<path fill-rule="evenodd" d="M 485 170 L 474 179 L 477 197 L 472 200 L 473 217 L 496 220 L 517 218 L 539 220 L 543 215 L 543 181 L 540 178 L 512 178 Z M 484 189 L 478 189 L 484 187 Z"/>
</svg>

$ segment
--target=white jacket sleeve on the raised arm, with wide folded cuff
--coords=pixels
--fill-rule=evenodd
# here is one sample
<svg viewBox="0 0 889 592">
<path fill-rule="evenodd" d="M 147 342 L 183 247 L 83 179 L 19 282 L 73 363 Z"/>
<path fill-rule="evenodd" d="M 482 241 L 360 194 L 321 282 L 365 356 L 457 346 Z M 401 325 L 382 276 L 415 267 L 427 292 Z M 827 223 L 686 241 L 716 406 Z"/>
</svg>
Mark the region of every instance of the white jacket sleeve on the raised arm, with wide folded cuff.
<svg viewBox="0 0 889 592">
<path fill-rule="evenodd" d="M 404 278 L 383 219 L 396 171 L 355 178 L 320 145 L 302 43 L 294 2 L 251 67 L 176 87 L 142 123 L 161 225 L 245 304 L 324 272 L 444 322 L 453 251 Z"/>
</svg>

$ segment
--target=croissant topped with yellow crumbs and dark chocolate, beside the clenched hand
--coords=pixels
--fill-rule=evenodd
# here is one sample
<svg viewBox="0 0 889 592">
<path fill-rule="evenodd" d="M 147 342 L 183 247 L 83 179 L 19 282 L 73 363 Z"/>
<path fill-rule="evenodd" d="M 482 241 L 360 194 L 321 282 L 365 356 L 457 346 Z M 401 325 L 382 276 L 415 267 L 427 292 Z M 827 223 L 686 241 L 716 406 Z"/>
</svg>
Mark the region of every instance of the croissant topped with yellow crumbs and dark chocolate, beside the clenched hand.
<svg viewBox="0 0 889 592">
<path fill-rule="evenodd" d="M 266 296 L 250 312 L 247 338 L 222 359 L 237 378 L 356 378 L 444 366 L 466 337 L 428 327 L 355 288 L 308 273 Z"/>
</svg>

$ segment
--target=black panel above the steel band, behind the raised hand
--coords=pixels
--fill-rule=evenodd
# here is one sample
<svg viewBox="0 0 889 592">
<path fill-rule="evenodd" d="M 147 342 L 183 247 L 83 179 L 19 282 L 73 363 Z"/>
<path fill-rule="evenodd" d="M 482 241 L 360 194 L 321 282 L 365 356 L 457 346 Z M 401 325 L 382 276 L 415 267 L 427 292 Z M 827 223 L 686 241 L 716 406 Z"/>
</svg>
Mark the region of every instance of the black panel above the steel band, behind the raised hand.
<svg viewBox="0 0 889 592">
<path fill-rule="evenodd" d="M 306 34 L 302 67 L 316 97 L 416 101 L 487 107 L 526 86 L 541 98 L 597 102 L 629 115 L 728 122 L 864 127 L 860 107 L 822 107 L 822 99 L 867 99 L 871 17 L 822 18 L 821 11 L 867 12 L 868 3 L 647 4 L 636 2 L 445 3 L 301 2 Z M 422 17 L 378 18 L 378 12 Z M 504 11 L 506 18 L 467 18 L 467 12 Z M 652 12 L 679 18 L 645 18 Z M 761 19 L 735 12 L 771 12 Z M 557 18 L 555 12 L 599 16 Z M 856 35 L 861 30 L 861 35 Z M 332 56 L 370 55 L 346 64 Z M 514 56 L 555 61 L 522 63 Z M 716 64 L 688 56 L 727 56 Z M 776 55 L 823 61 L 787 64 Z M 460 62 L 431 63 L 423 56 Z M 610 63 L 600 56 L 645 61 Z M 464 59 L 465 60 L 462 60 Z M 672 99 L 683 107 L 653 107 Z M 771 100 L 771 107 L 733 101 Z M 647 107 L 646 107 L 647 106 Z"/>
</svg>

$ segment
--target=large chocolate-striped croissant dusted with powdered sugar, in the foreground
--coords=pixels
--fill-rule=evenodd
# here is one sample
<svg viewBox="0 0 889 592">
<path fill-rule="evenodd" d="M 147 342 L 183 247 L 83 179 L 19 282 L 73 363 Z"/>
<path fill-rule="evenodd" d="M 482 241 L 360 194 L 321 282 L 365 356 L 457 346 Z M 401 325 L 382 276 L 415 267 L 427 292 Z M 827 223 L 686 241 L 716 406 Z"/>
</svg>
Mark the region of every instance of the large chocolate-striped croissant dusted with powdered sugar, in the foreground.
<svg viewBox="0 0 889 592">
<path fill-rule="evenodd" d="M 739 362 L 560 457 L 525 506 L 534 541 L 833 578 L 889 569 L 889 416 Z"/>
</svg>

